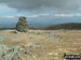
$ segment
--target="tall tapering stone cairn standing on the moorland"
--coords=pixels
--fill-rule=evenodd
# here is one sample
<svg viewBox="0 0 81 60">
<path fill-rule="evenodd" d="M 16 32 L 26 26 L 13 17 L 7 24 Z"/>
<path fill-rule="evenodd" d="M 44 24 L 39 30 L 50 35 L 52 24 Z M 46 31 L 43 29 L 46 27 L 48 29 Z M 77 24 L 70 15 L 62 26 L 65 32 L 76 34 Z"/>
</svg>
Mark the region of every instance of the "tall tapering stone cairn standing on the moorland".
<svg viewBox="0 0 81 60">
<path fill-rule="evenodd" d="M 27 32 L 28 24 L 27 24 L 26 17 L 19 17 L 19 20 L 16 25 L 16 30 L 19 32 Z"/>
</svg>

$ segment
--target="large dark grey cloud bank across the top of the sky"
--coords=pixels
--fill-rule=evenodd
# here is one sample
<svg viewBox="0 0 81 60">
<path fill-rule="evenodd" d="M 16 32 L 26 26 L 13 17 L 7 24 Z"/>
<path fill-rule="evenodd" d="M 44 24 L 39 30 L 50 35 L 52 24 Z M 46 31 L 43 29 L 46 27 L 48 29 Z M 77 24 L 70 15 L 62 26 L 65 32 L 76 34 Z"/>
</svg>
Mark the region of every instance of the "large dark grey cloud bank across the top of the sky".
<svg viewBox="0 0 81 60">
<path fill-rule="evenodd" d="M 81 0 L 0 0 L 11 8 L 27 11 L 76 11 L 81 8 Z"/>
</svg>

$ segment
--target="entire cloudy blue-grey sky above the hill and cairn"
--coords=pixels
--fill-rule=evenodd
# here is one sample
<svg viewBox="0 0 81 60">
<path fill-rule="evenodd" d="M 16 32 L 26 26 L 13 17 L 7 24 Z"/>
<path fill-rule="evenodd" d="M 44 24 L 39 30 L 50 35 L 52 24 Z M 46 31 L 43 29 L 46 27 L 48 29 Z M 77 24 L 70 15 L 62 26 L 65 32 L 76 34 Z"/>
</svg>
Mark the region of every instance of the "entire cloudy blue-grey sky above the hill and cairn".
<svg viewBox="0 0 81 60">
<path fill-rule="evenodd" d="M 81 0 L 0 0 L 0 25 L 15 26 L 26 16 L 29 27 L 81 22 Z"/>
</svg>

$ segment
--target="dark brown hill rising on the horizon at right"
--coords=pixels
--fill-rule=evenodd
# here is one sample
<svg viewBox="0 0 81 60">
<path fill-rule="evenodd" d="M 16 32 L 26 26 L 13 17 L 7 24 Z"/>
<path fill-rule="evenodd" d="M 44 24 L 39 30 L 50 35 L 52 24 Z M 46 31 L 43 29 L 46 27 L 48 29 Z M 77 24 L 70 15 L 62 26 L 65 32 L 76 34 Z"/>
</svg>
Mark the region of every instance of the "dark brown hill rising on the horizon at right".
<svg viewBox="0 0 81 60">
<path fill-rule="evenodd" d="M 58 29 L 81 30 L 81 24 L 79 22 L 59 24 L 59 25 L 48 27 L 46 29 L 48 30 L 58 30 Z"/>
</svg>

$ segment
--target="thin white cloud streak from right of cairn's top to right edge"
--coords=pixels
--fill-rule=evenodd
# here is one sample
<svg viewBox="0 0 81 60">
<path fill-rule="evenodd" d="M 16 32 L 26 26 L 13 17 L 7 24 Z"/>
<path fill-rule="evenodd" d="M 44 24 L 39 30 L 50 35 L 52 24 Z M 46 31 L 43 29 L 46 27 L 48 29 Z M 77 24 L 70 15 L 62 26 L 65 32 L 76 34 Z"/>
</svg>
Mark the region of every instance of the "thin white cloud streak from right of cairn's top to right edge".
<svg viewBox="0 0 81 60">
<path fill-rule="evenodd" d="M 27 16 L 29 18 L 40 18 L 40 17 L 81 17 L 81 14 L 33 14 Z"/>
</svg>

